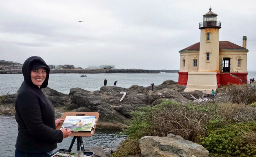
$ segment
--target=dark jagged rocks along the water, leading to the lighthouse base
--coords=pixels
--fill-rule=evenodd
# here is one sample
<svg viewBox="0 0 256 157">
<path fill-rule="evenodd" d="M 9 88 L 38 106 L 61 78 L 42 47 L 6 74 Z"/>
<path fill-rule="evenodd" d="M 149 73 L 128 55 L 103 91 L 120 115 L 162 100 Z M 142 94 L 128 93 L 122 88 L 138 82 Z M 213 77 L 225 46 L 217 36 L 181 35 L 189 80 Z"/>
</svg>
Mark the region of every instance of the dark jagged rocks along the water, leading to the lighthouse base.
<svg viewBox="0 0 256 157">
<path fill-rule="evenodd" d="M 190 94 L 200 98 L 202 93 L 184 92 L 185 86 L 177 82 L 166 80 L 159 86 L 143 87 L 133 85 L 130 88 L 102 86 L 99 91 L 86 91 L 81 88 L 70 89 L 69 94 L 63 94 L 53 89 L 42 89 L 46 97 L 54 105 L 56 118 L 63 112 L 99 112 L 98 128 L 126 128 L 131 119 L 130 112 L 139 107 L 154 106 L 162 100 L 175 102 L 192 102 Z M 126 96 L 120 102 L 123 94 Z M 17 94 L 17 93 L 16 93 Z M 16 94 L 0 96 L 0 114 L 14 115 L 14 101 Z"/>
</svg>

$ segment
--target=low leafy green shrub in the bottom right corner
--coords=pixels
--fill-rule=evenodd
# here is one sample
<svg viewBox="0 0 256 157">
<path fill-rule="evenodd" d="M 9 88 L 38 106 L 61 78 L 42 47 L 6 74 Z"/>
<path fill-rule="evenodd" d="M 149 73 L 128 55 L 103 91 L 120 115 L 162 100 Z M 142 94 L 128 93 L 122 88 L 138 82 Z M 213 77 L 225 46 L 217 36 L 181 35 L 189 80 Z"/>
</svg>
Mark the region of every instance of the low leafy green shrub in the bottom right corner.
<svg viewBox="0 0 256 157">
<path fill-rule="evenodd" d="M 256 155 L 256 122 L 226 125 L 210 130 L 207 137 L 201 137 L 204 146 L 214 156 Z"/>
</svg>

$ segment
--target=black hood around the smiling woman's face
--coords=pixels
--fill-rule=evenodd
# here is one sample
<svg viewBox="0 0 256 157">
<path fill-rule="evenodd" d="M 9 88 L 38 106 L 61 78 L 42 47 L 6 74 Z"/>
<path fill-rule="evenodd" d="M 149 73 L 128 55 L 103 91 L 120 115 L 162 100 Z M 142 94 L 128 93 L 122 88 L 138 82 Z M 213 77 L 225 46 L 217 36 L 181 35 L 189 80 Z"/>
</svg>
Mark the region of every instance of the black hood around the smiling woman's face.
<svg viewBox="0 0 256 157">
<path fill-rule="evenodd" d="M 30 76 L 31 65 L 34 62 L 39 62 L 39 63 L 43 64 L 44 66 L 46 66 L 46 74 L 47 74 L 46 80 L 44 80 L 44 82 L 41 85 L 41 88 L 46 88 L 48 85 L 50 68 L 41 57 L 32 56 L 32 57 L 27 58 L 27 60 L 25 60 L 25 62 L 23 63 L 23 66 L 22 66 L 22 74 L 24 76 L 24 82 L 26 82 L 28 85 L 35 86 L 36 88 L 38 88 L 38 86 L 33 84 L 32 80 L 31 80 L 31 76 Z"/>
</svg>

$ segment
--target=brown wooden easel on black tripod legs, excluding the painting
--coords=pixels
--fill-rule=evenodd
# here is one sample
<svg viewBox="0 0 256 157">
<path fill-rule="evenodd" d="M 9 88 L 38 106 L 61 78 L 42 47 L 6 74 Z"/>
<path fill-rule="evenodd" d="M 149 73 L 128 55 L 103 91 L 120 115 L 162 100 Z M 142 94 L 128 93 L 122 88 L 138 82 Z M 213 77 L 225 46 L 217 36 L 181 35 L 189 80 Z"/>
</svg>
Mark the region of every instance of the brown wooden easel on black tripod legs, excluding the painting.
<svg viewBox="0 0 256 157">
<path fill-rule="evenodd" d="M 95 124 L 95 127 L 91 130 L 91 132 L 72 132 L 71 135 L 69 136 L 74 136 L 72 141 L 71 141 L 71 144 L 69 146 L 69 149 L 68 149 L 68 152 L 71 152 L 71 149 L 72 149 L 72 146 L 75 142 L 75 139 L 77 139 L 77 150 L 79 151 L 80 150 L 80 147 L 81 147 L 81 150 L 83 152 L 85 152 L 85 148 L 83 146 L 83 139 L 82 137 L 90 137 L 94 134 L 95 132 L 95 129 L 96 129 L 96 125 L 97 125 L 97 122 L 99 120 L 99 113 L 98 112 L 65 112 L 61 115 L 61 119 L 64 119 L 66 118 L 66 116 L 76 116 L 76 115 L 82 115 L 82 116 L 95 116 L 95 118 L 97 119 L 96 121 L 96 124 Z M 63 121 L 60 122 L 57 126 L 56 126 L 56 129 L 60 130 L 61 126 L 63 124 Z"/>
</svg>

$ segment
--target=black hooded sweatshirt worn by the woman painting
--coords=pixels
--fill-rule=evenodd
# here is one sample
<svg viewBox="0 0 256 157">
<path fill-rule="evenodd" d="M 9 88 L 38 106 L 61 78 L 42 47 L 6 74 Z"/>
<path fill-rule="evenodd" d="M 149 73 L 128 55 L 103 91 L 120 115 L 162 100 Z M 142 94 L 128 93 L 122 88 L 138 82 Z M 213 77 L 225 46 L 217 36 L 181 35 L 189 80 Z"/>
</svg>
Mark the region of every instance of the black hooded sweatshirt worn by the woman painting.
<svg viewBox="0 0 256 157">
<path fill-rule="evenodd" d="M 30 69 L 33 62 L 46 66 L 46 79 L 41 88 L 48 85 L 50 68 L 41 57 L 28 58 L 23 66 L 24 82 L 20 86 L 15 101 L 15 118 L 18 123 L 16 149 L 27 153 L 50 152 L 62 142 L 63 133 L 56 130 L 55 111 L 41 88 L 31 81 Z"/>
</svg>

